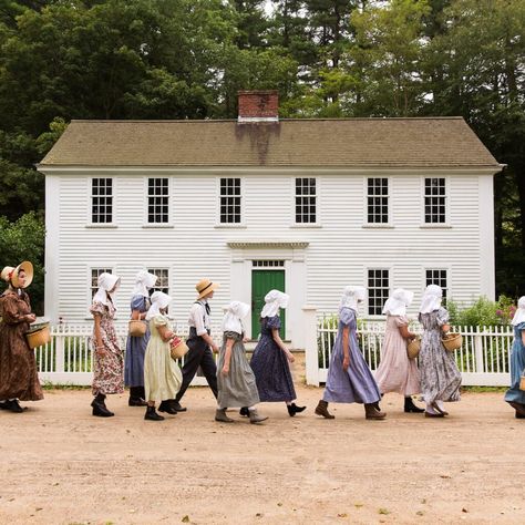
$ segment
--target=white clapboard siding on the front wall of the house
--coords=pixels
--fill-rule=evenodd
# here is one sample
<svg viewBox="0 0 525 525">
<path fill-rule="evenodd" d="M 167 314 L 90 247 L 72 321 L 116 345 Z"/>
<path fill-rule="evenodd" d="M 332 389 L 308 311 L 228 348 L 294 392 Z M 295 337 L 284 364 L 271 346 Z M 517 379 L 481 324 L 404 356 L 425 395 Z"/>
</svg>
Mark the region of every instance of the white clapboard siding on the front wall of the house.
<svg viewBox="0 0 525 525">
<path fill-rule="evenodd" d="M 366 284 L 368 268 L 389 268 L 390 286 L 415 291 L 414 307 L 424 286 L 424 270 L 449 270 L 450 296 L 459 301 L 472 301 L 478 295 L 493 296 L 494 261 L 486 251 L 492 243 L 492 176 L 431 172 L 381 172 L 390 184 L 391 223 L 389 227 L 367 227 L 366 173 L 287 173 L 276 169 L 262 172 L 233 171 L 231 173 L 126 172 L 107 168 L 103 174 L 65 172 L 47 175 L 49 205 L 55 214 L 48 214 L 47 315 L 59 316 L 69 322 L 87 319 L 89 276 L 91 268 L 111 267 L 122 277 L 116 296 L 120 318 L 128 315 L 128 299 L 134 275 L 142 267 L 168 268 L 172 313 L 185 320 L 195 299 L 194 286 L 207 276 L 220 282 L 214 299 L 217 318 L 223 305 L 230 299 L 230 290 L 240 290 L 234 282 L 233 260 L 243 257 L 228 243 L 294 241 L 308 243 L 302 259 L 294 264 L 297 271 L 290 290 L 301 300 L 322 310 L 334 310 L 343 286 Z M 91 176 L 112 176 L 114 179 L 113 227 L 90 225 Z M 169 227 L 148 227 L 145 224 L 147 177 L 169 178 Z M 318 181 L 318 225 L 295 225 L 296 176 L 316 176 Z M 446 227 L 424 227 L 423 178 L 445 176 L 449 216 Z M 243 224 L 240 227 L 219 225 L 218 179 L 241 178 Z M 255 255 L 254 255 L 255 254 Z M 278 248 L 256 250 L 251 258 L 280 258 Z M 296 256 L 285 257 L 291 271 Z M 302 257 L 302 256 L 301 256 Z M 246 258 L 246 257 L 245 257 Z M 250 260 L 246 265 L 250 265 Z M 303 276 L 300 274 L 302 271 Z M 488 265 L 488 267 L 487 267 Z M 239 267 L 240 268 L 240 267 Z M 238 278 L 244 279 L 244 298 L 249 298 L 250 267 Z M 50 274 L 50 269 L 52 272 Z M 488 276 L 488 277 L 487 277 Z M 299 284 L 297 280 L 302 279 Z M 294 301 L 290 308 L 300 310 Z M 296 312 L 297 313 L 297 312 Z M 292 315 L 294 317 L 294 315 Z M 297 318 L 297 315 L 296 315 Z M 297 328 L 290 327 L 290 332 Z"/>
</svg>

